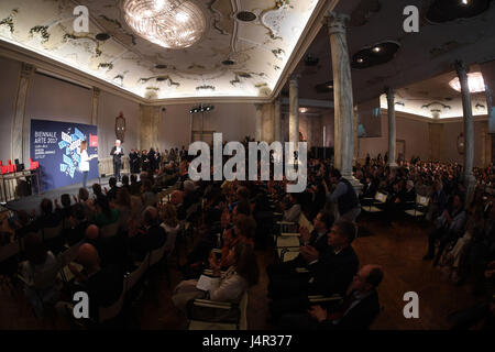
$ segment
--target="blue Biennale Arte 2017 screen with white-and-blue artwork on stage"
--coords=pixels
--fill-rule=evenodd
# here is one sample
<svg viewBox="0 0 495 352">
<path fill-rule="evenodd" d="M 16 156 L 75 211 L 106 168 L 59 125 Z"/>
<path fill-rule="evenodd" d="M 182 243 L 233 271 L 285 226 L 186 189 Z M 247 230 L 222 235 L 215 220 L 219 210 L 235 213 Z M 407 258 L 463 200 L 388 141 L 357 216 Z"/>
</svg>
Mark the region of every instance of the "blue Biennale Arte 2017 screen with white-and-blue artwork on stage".
<svg viewBox="0 0 495 352">
<path fill-rule="evenodd" d="M 82 182 L 80 143 L 87 141 L 89 179 L 98 178 L 98 130 L 96 125 L 31 120 L 30 153 L 40 162 L 41 191 Z"/>
</svg>

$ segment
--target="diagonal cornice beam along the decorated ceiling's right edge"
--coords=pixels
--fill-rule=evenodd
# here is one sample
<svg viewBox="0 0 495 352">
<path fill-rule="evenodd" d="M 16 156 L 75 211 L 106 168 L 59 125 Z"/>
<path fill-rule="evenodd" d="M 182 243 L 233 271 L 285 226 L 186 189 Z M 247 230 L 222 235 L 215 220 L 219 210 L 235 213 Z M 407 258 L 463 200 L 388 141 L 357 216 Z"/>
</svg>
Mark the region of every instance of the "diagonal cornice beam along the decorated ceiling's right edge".
<svg viewBox="0 0 495 352">
<path fill-rule="evenodd" d="M 339 0 L 326 0 L 320 1 L 317 4 L 311 14 L 311 18 L 308 21 L 308 24 L 306 25 L 306 29 L 302 31 L 302 34 L 300 35 L 299 42 L 296 44 L 296 47 L 294 48 L 290 55 L 290 58 L 288 59 L 287 64 L 284 67 L 284 70 L 282 72 L 280 78 L 278 79 L 277 84 L 275 85 L 272 91 L 272 95 L 270 97 L 272 100 L 275 100 L 278 97 L 288 77 L 296 69 L 302 56 L 306 54 L 309 46 L 312 44 L 312 41 L 323 26 L 323 18 L 327 15 L 329 11 L 333 10 L 337 7 L 338 2 Z M 329 53 L 329 55 L 331 55 L 331 53 Z"/>
</svg>

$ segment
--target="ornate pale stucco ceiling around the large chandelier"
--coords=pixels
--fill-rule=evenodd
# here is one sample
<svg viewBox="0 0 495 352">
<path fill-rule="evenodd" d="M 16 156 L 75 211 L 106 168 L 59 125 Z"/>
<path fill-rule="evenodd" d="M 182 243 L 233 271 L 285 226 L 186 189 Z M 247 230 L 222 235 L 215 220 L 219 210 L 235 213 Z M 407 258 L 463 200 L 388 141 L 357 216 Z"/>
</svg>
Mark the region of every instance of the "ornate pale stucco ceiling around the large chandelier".
<svg viewBox="0 0 495 352">
<path fill-rule="evenodd" d="M 165 48 L 127 24 L 121 0 L 1 0 L 0 41 L 36 52 L 147 99 L 267 97 L 322 0 L 187 0 L 206 31 Z M 89 31 L 76 32 L 77 6 Z M 238 19 L 252 12 L 252 21 Z M 107 33 L 108 40 L 97 34 Z"/>
</svg>

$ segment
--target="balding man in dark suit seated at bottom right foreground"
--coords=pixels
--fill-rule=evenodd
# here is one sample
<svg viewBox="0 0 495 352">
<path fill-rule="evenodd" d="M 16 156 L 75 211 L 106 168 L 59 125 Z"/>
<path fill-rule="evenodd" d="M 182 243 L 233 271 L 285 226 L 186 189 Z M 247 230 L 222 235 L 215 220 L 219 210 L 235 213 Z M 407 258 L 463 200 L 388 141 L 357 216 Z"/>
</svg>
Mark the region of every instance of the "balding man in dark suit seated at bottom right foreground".
<svg viewBox="0 0 495 352">
<path fill-rule="evenodd" d="M 383 279 L 378 265 L 364 265 L 354 276 L 346 295 L 332 310 L 312 306 L 306 315 L 287 315 L 278 324 L 297 330 L 365 330 L 380 314 L 376 287 Z"/>
</svg>

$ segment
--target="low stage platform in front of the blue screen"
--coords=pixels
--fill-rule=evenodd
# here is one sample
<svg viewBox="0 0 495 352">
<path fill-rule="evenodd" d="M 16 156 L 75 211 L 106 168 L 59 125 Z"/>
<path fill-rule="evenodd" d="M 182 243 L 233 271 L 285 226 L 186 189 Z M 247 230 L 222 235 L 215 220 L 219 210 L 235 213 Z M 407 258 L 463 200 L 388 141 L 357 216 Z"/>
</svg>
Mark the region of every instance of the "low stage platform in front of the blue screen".
<svg viewBox="0 0 495 352">
<path fill-rule="evenodd" d="M 100 178 L 101 182 L 101 188 L 103 187 L 108 187 L 108 180 L 110 177 L 105 177 L 105 178 Z M 99 179 L 95 178 L 95 179 L 88 179 L 87 182 L 87 189 L 89 191 L 89 196 L 92 196 L 92 184 L 98 183 Z M 120 183 L 119 183 L 120 185 Z M 74 184 L 70 186 L 65 186 L 65 187 L 61 187 L 61 188 L 55 188 L 55 189 L 51 189 L 47 191 L 44 191 L 40 195 L 32 195 L 32 196 L 28 196 L 28 197 L 22 197 L 20 199 L 16 200 L 12 200 L 7 202 L 7 205 L 3 205 L 4 208 L 11 210 L 11 211 L 19 211 L 19 210 L 26 210 L 29 212 L 31 212 L 32 209 L 35 209 L 36 212 L 40 212 L 40 204 L 43 200 L 43 198 L 48 198 L 52 199 L 52 201 L 56 198 L 58 199 L 58 204 L 61 204 L 61 196 L 64 194 L 69 194 L 75 195 L 77 197 L 77 195 L 79 194 L 79 188 L 82 187 L 82 183 L 78 183 L 78 184 Z M 73 197 L 70 197 L 72 202 L 74 204 L 74 199 Z"/>
</svg>

